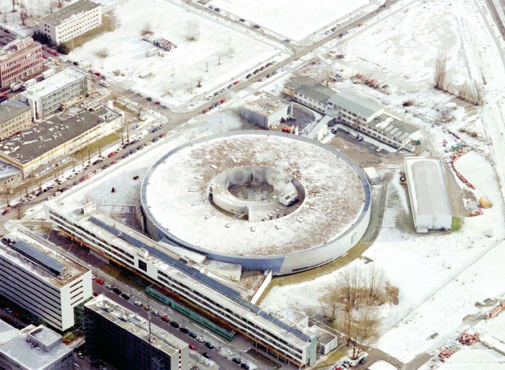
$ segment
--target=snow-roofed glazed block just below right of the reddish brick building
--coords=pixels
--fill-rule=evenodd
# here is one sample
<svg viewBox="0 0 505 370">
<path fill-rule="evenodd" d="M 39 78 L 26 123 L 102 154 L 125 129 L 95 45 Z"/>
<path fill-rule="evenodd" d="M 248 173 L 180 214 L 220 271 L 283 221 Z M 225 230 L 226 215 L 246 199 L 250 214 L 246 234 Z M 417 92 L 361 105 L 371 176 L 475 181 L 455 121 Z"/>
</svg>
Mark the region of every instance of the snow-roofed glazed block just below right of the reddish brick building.
<svg viewBox="0 0 505 370">
<path fill-rule="evenodd" d="M 78 101 L 87 92 L 87 75 L 69 67 L 28 88 L 19 97 L 30 106 L 34 119 L 40 119 Z"/>
</svg>

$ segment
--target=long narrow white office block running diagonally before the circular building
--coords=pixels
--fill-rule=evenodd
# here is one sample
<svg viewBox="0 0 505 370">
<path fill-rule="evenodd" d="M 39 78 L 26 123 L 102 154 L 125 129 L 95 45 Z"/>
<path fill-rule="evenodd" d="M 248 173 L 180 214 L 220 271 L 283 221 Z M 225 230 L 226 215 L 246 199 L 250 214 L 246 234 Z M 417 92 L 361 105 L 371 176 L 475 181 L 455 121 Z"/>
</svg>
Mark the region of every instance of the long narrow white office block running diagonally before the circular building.
<svg viewBox="0 0 505 370">
<path fill-rule="evenodd" d="M 70 238 L 105 256 L 224 326 L 252 341 L 255 348 L 284 363 L 306 368 L 318 358 L 318 336 L 250 303 L 227 285 L 214 281 L 170 256 L 165 248 L 125 225 L 95 213 L 76 215 L 72 201 L 65 208 L 44 204 L 46 218 Z M 87 209 L 82 206 L 82 209 Z"/>
</svg>

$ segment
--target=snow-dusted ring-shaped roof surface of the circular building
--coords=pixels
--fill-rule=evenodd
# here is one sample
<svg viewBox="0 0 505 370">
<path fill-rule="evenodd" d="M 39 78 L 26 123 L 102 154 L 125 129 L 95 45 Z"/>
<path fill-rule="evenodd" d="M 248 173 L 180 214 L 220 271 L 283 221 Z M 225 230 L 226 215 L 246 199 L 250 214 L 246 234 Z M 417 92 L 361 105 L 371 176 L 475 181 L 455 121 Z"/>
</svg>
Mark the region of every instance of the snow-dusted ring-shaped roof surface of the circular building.
<svg viewBox="0 0 505 370">
<path fill-rule="evenodd" d="M 211 179 L 253 165 L 282 165 L 304 187 L 301 205 L 284 216 L 280 210 L 279 218 L 252 222 L 233 219 L 209 202 Z M 342 153 L 305 137 L 235 131 L 162 157 L 147 173 L 141 198 L 147 217 L 191 249 L 229 256 L 286 255 L 328 243 L 352 227 L 365 205 L 358 171 Z"/>
</svg>

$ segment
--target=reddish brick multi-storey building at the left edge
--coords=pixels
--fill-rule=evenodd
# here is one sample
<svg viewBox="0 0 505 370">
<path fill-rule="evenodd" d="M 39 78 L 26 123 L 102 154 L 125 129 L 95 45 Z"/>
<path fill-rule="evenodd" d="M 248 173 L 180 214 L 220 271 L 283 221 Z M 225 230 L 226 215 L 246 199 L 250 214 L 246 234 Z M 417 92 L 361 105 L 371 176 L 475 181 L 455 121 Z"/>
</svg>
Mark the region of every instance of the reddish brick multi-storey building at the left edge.
<svg viewBox="0 0 505 370">
<path fill-rule="evenodd" d="M 37 72 L 42 67 L 42 48 L 31 37 L 18 38 L 0 48 L 0 88 Z"/>
</svg>

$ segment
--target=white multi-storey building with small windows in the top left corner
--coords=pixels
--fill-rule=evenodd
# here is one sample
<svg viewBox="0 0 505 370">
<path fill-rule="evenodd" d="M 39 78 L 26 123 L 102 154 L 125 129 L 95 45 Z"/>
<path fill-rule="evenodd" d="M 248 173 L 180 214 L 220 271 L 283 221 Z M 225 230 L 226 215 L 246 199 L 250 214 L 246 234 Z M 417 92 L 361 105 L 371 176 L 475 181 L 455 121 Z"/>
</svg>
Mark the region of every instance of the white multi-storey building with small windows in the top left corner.
<svg viewBox="0 0 505 370">
<path fill-rule="evenodd" d="M 102 6 L 79 0 L 38 21 L 38 29 L 59 44 L 102 24 Z"/>
</svg>

